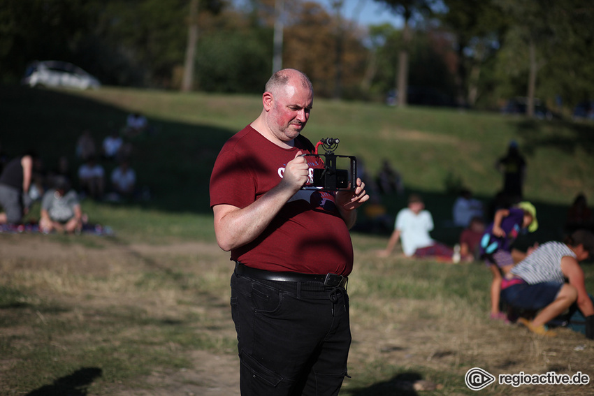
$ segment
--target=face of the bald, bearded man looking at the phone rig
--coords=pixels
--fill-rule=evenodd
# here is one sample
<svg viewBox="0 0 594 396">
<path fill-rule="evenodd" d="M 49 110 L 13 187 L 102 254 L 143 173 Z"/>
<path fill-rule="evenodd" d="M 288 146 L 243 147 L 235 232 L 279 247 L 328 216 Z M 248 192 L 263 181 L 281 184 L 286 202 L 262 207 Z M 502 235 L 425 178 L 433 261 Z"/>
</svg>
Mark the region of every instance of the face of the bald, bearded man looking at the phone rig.
<svg viewBox="0 0 594 396">
<path fill-rule="evenodd" d="M 296 138 L 307 124 L 313 105 L 313 93 L 300 82 L 287 85 L 273 96 L 268 127 L 276 138 L 287 142 Z"/>
</svg>

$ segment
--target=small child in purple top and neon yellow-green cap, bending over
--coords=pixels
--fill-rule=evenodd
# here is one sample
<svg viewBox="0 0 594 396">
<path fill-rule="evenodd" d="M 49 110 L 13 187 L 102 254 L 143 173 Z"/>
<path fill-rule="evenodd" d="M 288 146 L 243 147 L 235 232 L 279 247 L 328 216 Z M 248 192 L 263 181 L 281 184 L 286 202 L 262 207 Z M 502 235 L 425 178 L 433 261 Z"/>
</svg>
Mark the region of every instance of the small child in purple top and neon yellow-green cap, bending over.
<svg viewBox="0 0 594 396">
<path fill-rule="evenodd" d="M 481 239 L 481 257 L 493 273 L 491 281 L 491 318 L 507 320 L 499 311 L 502 274 L 505 276 L 514 264 L 526 257 L 523 252 L 512 249 L 518 235 L 525 229 L 530 233 L 538 228 L 536 208 L 529 202 L 521 202 L 510 209 L 495 212 L 493 223 L 486 228 Z M 528 250 L 530 254 L 531 249 Z M 514 260 L 514 257 L 516 258 Z"/>
</svg>

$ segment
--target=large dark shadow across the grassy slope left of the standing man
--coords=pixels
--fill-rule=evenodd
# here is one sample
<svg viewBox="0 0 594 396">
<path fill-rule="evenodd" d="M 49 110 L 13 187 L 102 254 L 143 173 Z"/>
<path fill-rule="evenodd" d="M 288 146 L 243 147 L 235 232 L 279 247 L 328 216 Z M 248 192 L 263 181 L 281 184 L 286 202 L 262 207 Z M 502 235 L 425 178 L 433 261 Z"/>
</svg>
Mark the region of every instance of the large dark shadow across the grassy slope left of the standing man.
<svg viewBox="0 0 594 396">
<path fill-rule="evenodd" d="M 0 117 L 3 131 L 2 154 L 12 159 L 35 149 L 44 170 L 54 170 L 59 157 L 70 164 L 73 186 L 82 161 L 75 146 L 82 131 L 91 131 L 97 150 L 114 129 L 126 123 L 129 111 L 68 91 L 2 87 Z M 130 166 L 136 170 L 137 186 L 150 190 L 147 202 L 122 203 L 168 212 L 210 213 L 208 184 L 222 145 L 237 131 L 212 125 L 149 119 L 155 133 L 131 138 Z M 117 163 L 101 159 L 106 185 Z M 84 209 L 84 208 L 83 208 Z"/>
</svg>

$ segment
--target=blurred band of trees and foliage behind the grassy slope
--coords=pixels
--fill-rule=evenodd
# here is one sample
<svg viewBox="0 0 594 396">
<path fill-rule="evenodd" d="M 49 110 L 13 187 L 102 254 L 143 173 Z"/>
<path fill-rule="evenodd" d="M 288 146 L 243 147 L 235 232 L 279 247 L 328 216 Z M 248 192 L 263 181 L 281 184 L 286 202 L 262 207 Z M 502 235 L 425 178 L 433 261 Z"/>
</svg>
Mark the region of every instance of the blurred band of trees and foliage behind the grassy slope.
<svg viewBox="0 0 594 396">
<path fill-rule="evenodd" d="M 477 108 L 513 96 L 594 98 L 591 1 L 373 1 L 404 27 L 360 26 L 342 16 L 342 1 L 330 10 L 285 1 L 283 67 L 307 73 L 317 95 L 345 99 L 384 100 L 395 89 L 410 103 Z M 3 0 L 0 82 L 57 59 L 106 85 L 180 89 L 189 71 L 186 89 L 259 92 L 272 69 L 275 0 L 243 4 Z"/>
</svg>

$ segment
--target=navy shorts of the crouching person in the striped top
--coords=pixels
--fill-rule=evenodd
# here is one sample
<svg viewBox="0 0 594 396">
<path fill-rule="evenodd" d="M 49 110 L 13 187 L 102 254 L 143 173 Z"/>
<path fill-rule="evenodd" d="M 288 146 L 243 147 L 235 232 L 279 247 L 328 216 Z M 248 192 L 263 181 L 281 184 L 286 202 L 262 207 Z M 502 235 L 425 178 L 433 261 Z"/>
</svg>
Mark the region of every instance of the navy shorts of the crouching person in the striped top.
<svg viewBox="0 0 594 396">
<path fill-rule="evenodd" d="M 537 310 L 555 301 L 563 284 L 558 282 L 544 282 L 542 284 L 527 284 L 522 282 L 501 290 L 501 299 L 512 307 Z"/>
</svg>

